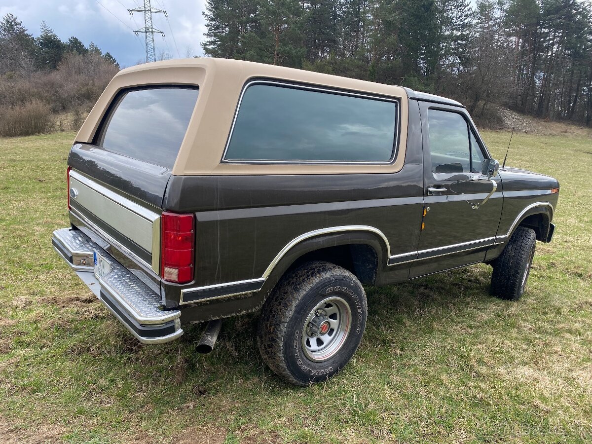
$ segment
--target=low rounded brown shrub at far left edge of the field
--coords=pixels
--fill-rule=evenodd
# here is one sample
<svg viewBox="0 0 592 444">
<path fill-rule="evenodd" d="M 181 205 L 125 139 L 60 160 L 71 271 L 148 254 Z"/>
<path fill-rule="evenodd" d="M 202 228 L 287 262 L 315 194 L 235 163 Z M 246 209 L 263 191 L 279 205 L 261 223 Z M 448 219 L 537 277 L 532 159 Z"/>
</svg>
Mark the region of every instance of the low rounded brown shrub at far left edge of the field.
<svg viewBox="0 0 592 444">
<path fill-rule="evenodd" d="M 48 133 L 53 126 L 52 107 L 38 99 L 0 110 L 0 136 L 3 137 Z"/>
</svg>

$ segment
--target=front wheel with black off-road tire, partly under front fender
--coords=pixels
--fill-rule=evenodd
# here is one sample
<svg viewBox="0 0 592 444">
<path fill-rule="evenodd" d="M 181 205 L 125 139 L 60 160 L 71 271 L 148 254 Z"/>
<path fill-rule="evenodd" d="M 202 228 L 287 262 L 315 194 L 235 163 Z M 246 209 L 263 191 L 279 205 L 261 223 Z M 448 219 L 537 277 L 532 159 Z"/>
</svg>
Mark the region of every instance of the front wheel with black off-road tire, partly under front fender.
<svg viewBox="0 0 592 444">
<path fill-rule="evenodd" d="M 507 301 L 522 297 L 535 256 L 536 234 L 518 227 L 501 255 L 493 262 L 491 294 Z"/>
</svg>

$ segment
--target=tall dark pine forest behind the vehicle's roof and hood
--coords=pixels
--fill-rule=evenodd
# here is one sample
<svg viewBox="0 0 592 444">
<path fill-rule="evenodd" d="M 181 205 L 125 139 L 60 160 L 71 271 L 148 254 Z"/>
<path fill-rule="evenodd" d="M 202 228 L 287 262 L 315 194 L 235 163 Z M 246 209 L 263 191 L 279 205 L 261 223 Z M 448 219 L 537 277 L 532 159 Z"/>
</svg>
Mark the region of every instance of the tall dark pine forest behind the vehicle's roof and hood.
<svg viewBox="0 0 592 444">
<path fill-rule="evenodd" d="M 207 0 L 205 54 L 409 86 L 484 123 L 501 104 L 592 126 L 592 14 L 576 0 Z"/>
</svg>

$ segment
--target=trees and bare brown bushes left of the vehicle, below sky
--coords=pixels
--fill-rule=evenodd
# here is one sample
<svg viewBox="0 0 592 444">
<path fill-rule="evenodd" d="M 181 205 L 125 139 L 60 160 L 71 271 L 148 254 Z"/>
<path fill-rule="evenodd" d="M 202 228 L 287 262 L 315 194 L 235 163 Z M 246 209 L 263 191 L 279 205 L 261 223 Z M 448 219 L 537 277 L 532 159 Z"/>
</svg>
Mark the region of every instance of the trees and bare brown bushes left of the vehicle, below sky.
<svg viewBox="0 0 592 444">
<path fill-rule="evenodd" d="M 41 23 L 38 37 L 7 14 L 0 20 L 0 136 L 75 129 L 120 69 L 110 53 Z"/>
</svg>

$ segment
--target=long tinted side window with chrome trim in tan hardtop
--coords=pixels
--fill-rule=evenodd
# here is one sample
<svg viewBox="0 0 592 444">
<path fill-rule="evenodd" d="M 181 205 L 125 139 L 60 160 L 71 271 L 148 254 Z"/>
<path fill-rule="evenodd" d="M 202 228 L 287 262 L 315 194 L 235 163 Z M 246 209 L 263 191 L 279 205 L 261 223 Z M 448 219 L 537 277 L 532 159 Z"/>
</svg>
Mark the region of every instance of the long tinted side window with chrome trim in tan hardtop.
<svg viewBox="0 0 592 444">
<path fill-rule="evenodd" d="M 240 102 L 226 160 L 390 162 L 397 105 L 366 96 L 258 83 Z"/>
</svg>

